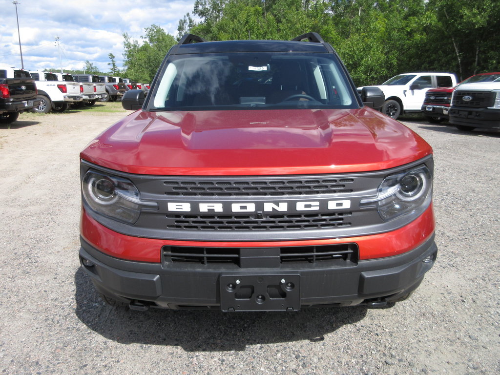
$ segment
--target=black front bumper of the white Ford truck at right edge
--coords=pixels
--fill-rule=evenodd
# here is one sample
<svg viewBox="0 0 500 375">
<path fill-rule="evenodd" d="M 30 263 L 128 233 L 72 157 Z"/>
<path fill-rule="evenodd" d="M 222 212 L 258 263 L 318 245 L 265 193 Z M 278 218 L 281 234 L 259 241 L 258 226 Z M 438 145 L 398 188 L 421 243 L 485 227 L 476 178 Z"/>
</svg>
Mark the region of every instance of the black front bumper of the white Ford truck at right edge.
<svg viewBox="0 0 500 375">
<path fill-rule="evenodd" d="M 500 128 L 500 109 L 452 107 L 449 122 L 470 127 Z"/>
</svg>

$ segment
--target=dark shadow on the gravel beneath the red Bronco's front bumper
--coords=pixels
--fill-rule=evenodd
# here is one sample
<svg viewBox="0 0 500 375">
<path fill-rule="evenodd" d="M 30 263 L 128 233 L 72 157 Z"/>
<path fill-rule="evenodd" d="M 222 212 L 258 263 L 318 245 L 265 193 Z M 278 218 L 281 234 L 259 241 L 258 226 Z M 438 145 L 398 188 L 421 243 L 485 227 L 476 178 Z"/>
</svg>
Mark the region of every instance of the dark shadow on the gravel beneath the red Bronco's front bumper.
<svg viewBox="0 0 500 375">
<path fill-rule="evenodd" d="M 144 312 L 111 307 L 79 267 L 74 275 L 76 316 L 100 335 L 120 343 L 176 345 L 185 351 L 244 350 L 247 345 L 321 341 L 366 315 L 366 307 L 324 307 L 297 312 L 223 313 L 215 310 Z"/>
</svg>

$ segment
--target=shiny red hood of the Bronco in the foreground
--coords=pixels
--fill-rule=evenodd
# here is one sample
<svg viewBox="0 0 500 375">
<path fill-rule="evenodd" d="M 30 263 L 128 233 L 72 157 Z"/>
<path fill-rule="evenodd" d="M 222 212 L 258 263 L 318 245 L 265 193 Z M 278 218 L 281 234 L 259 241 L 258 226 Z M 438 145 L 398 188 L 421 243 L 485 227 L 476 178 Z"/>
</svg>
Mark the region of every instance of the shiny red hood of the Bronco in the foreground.
<svg viewBox="0 0 500 375">
<path fill-rule="evenodd" d="M 129 173 L 314 174 L 380 170 L 430 146 L 371 108 L 146 112 L 118 121 L 81 152 Z"/>
</svg>

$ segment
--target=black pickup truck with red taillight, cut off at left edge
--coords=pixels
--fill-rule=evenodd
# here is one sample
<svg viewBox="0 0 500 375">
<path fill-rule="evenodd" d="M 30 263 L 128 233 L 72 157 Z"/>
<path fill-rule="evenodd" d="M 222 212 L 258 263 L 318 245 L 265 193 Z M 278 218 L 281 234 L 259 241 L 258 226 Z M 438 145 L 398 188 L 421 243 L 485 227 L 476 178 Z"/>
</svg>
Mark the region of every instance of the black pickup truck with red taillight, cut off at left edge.
<svg viewBox="0 0 500 375">
<path fill-rule="evenodd" d="M 14 122 L 19 113 L 37 107 L 36 84 L 27 70 L 0 66 L 0 123 Z"/>
</svg>

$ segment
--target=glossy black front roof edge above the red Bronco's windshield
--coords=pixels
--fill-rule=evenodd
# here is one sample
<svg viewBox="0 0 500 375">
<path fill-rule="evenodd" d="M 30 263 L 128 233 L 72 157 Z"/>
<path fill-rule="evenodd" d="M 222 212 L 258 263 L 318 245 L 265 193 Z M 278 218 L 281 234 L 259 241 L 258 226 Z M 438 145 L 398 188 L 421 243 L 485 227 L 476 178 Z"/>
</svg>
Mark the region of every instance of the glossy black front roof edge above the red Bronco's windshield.
<svg viewBox="0 0 500 375">
<path fill-rule="evenodd" d="M 285 40 L 224 40 L 177 44 L 171 54 L 212 52 L 316 52 L 328 53 L 323 43 Z"/>
</svg>

